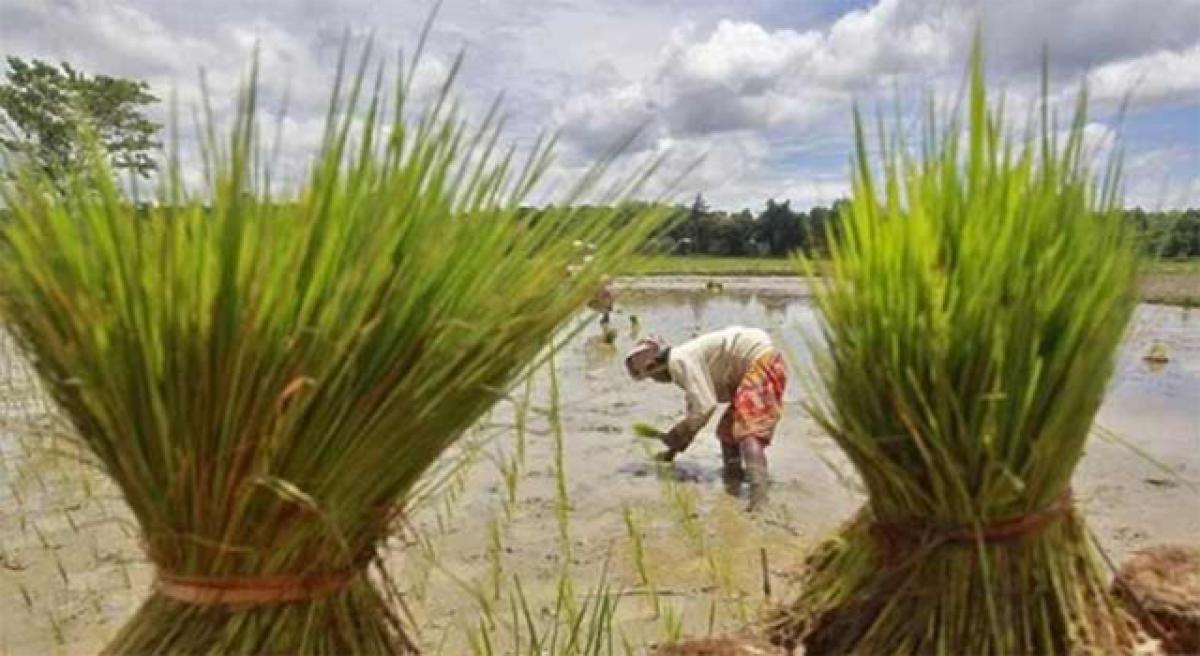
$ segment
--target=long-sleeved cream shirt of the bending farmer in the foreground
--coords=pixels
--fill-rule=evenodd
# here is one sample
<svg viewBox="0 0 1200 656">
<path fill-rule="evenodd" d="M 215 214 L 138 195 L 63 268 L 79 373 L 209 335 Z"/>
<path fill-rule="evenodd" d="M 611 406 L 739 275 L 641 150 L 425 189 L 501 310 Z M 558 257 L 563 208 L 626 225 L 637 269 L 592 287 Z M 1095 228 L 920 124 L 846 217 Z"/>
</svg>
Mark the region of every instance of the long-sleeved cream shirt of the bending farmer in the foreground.
<svg viewBox="0 0 1200 656">
<path fill-rule="evenodd" d="M 773 348 L 766 332 L 744 326 L 730 326 L 672 347 L 667 369 L 688 399 L 688 416 L 677 431 L 690 438 L 703 428 L 718 403 L 733 399 L 750 365 Z"/>
</svg>

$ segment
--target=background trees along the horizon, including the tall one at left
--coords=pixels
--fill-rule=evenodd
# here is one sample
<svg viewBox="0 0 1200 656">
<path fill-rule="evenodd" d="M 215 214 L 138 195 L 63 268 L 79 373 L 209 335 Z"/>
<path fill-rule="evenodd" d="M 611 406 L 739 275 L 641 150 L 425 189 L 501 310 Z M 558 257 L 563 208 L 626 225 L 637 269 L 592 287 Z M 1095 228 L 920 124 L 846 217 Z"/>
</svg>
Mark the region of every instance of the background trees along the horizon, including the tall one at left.
<svg viewBox="0 0 1200 656">
<path fill-rule="evenodd" d="M 64 179 L 84 158 L 80 126 L 90 126 L 115 169 L 148 176 L 157 167 L 161 125 L 146 118 L 157 102 L 146 83 L 88 76 L 68 64 L 6 59 L 0 82 L 0 148 L 25 154 L 52 179 Z M 846 200 L 830 206 L 792 209 L 790 200 L 768 199 L 758 211 L 714 210 L 700 194 L 690 205 L 670 207 L 674 221 L 648 245 L 656 252 L 725 257 L 782 257 L 828 253 Z M 535 210 L 533 210 L 536 213 Z M 1147 254 L 1200 257 L 1200 209 L 1126 210 L 1144 237 Z"/>
</svg>

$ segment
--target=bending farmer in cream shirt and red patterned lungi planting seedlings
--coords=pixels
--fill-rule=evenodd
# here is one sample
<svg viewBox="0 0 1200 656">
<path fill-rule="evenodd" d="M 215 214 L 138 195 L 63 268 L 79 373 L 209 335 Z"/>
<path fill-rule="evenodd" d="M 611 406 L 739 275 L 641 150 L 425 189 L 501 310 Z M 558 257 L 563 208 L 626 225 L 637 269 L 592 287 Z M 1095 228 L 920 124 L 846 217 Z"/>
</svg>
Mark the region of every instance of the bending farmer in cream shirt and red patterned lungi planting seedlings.
<svg viewBox="0 0 1200 656">
<path fill-rule="evenodd" d="M 750 510 L 767 498 L 767 455 L 784 411 L 787 373 L 784 359 L 758 330 L 730 326 L 671 347 L 659 338 L 641 339 L 625 356 L 634 380 L 674 383 L 686 396 L 686 416 L 662 435 L 670 462 L 688 449 L 719 403 L 728 409 L 716 426 L 725 479 L 740 483 L 749 475 Z"/>
</svg>

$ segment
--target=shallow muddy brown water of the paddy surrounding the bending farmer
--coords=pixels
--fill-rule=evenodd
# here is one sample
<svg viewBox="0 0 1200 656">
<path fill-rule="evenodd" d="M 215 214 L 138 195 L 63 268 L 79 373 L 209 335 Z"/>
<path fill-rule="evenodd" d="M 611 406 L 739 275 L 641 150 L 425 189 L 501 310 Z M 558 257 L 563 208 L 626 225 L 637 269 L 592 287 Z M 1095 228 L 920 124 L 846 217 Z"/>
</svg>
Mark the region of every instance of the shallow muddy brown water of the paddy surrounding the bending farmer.
<svg viewBox="0 0 1200 656">
<path fill-rule="evenodd" d="M 799 407 L 800 386 L 788 391 L 768 450 L 772 500 L 756 516 L 724 488 L 710 428 L 666 470 L 629 429 L 634 421 L 665 427 L 682 409 L 674 387 L 625 378 L 620 354 L 637 335 L 683 341 L 755 325 L 790 360 L 804 360 L 800 336 L 815 318 L 803 283 L 720 282 L 720 290 L 706 290 L 704 278 L 628 282 L 613 315 L 616 344 L 586 326 L 556 357 L 557 397 L 547 373 L 536 377 L 523 431 L 515 428 L 517 390 L 517 403 L 502 403 L 472 432 L 473 464 L 414 513 L 422 540 L 397 540 L 389 556 L 431 652 L 468 652 L 481 618 L 506 639 L 514 579 L 535 622 L 547 624 L 564 572 L 577 606 L 606 572 L 619 633 L 632 644 L 680 622 L 695 634 L 752 618 L 764 602 L 763 556 L 773 596 L 790 595 L 804 549 L 860 501 L 850 468 Z M 1154 343 L 1170 361 L 1152 368 L 1141 356 Z M 144 595 L 149 570 L 113 491 L 46 453 L 61 427 L 46 419 L 36 387 L 19 367 L 0 367 L 0 654 L 94 650 Z M 1140 307 L 1099 416 L 1120 439 L 1091 443 L 1075 485 L 1115 560 L 1145 544 L 1200 542 L 1198 409 L 1200 312 Z M 505 469 L 517 471 L 515 487 Z"/>
</svg>

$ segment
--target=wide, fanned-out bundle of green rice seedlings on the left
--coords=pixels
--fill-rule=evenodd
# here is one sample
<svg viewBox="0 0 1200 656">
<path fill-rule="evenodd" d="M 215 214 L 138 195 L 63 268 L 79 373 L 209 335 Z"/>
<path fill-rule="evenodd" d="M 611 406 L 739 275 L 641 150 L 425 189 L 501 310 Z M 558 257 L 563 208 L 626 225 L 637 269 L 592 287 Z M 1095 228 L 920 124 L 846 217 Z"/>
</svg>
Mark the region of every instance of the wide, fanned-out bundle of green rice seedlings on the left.
<svg viewBox="0 0 1200 656">
<path fill-rule="evenodd" d="M 598 189 L 602 164 L 523 209 L 551 140 L 518 158 L 497 112 L 464 120 L 454 74 L 413 110 L 414 65 L 389 91 L 373 61 L 340 67 L 290 192 L 270 185 L 253 74 L 228 138 L 199 130 L 200 189 L 176 152 L 138 209 L 95 150 L 65 185 L 26 168 L 4 187 L 8 327 L 157 572 L 108 652 L 413 652 L 370 570 L 389 524 L 664 218 L 572 210 L 648 171 Z M 576 240 L 596 249 L 569 275 Z"/>
</svg>

